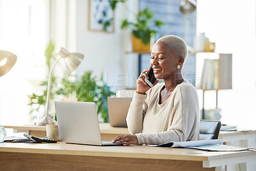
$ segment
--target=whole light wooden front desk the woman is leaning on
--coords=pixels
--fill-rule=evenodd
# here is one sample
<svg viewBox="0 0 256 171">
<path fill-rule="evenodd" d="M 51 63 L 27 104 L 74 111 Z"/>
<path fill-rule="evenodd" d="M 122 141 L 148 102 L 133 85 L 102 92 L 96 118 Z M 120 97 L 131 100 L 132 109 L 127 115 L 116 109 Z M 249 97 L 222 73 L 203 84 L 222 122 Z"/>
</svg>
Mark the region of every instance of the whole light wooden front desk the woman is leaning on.
<svg viewBox="0 0 256 171">
<path fill-rule="evenodd" d="M 1 170 L 214 170 L 221 165 L 255 160 L 255 151 L 0 143 Z"/>
</svg>

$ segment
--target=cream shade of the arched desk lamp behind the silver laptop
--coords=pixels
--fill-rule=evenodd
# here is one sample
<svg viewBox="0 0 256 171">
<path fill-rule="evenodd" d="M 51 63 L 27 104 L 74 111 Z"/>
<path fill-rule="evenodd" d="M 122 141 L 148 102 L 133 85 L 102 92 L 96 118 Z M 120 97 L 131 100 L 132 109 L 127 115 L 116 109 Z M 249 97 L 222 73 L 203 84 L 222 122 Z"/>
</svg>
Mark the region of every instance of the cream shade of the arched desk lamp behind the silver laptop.
<svg viewBox="0 0 256 171">
<path fill-rule="evenodd" d="M 77 66 L 83 61 L 84 55 L 79 53 L 69 53 L 65 48 L 61 48 L 60 56 L 64 58 L 68 72 L 76 70 Z"/>
</svg>

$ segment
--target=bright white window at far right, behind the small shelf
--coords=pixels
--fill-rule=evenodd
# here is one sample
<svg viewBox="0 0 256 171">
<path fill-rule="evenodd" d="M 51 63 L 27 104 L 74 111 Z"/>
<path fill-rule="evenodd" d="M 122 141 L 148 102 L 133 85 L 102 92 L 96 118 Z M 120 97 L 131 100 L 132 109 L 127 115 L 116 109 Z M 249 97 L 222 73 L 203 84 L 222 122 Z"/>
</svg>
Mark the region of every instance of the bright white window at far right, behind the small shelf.
<svg viewBox="0 0 256 171">
<path fill-rule="evenodd" d="M 232 53 L 232 86 L 218 93 L 221 122 L 256 129 L 256 1 L 198 0 L 197 32 L 216 43 L 216 52 Z M 202 105 L 202 96 L 200 104 Z M 205 93 L 214 108 L 215 92 Z"/>
</svg>

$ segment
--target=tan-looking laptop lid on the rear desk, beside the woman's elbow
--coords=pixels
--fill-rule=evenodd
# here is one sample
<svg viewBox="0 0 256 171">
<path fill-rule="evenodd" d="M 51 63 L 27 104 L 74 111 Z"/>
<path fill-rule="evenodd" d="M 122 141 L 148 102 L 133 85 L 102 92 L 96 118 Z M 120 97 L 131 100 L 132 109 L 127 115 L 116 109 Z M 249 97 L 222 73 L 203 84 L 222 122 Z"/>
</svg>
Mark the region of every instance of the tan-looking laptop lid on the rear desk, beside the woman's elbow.
<svg viewBox="0 0 256 171">
<path fill-rule="evenodd" d="M 132 98 L 108 97 L 109 124 L 115 127 L 127 127 L 126 116 Z"/>
</svg>

